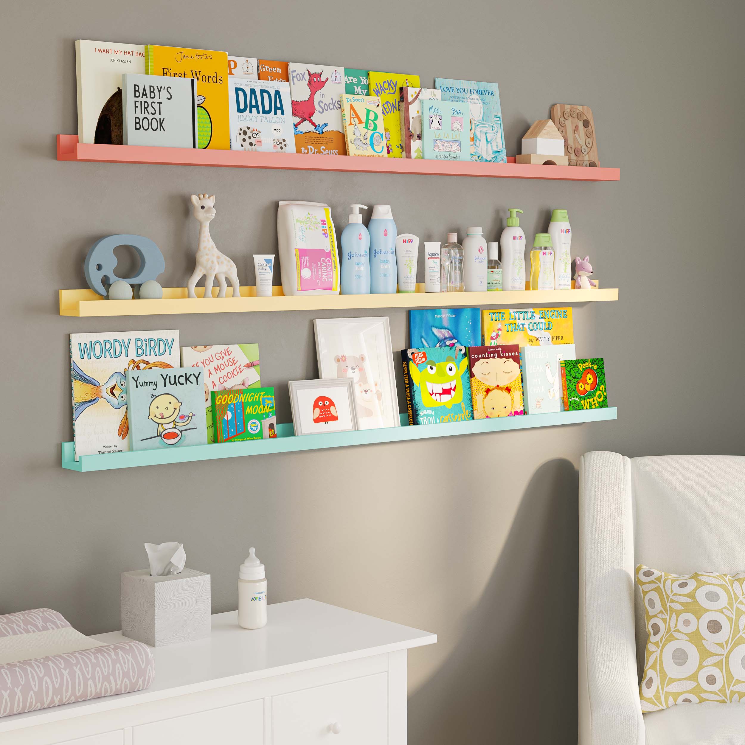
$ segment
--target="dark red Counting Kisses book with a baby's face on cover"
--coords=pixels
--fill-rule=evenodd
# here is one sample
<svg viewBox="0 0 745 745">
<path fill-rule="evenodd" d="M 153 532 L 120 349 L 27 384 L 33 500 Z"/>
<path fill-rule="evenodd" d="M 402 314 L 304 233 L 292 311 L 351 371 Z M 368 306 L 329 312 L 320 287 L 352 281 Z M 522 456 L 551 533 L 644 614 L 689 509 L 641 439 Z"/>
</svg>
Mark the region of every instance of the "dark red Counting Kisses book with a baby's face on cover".
<svg viewBox="0 0 745 745">
<path fill-rule="evenodd" d="M 473 418 L 522 415 L 522 374 L 518 346 L 469 346 L 468 353 Z"/>
</svg>

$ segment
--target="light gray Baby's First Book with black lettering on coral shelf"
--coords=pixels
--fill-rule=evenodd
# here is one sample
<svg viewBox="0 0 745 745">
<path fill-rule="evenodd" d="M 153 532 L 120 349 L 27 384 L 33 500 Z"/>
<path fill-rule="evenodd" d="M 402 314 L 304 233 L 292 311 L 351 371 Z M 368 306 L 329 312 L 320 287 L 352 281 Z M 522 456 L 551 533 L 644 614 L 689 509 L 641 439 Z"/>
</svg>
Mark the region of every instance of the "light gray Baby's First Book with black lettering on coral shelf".
<svg viewBox="0 0 745 745">
<path fill-rule="evenodd" d="M 196 148 L 197 81 L 190 77 L 121 76 L 124 145 Z"/>
</svg>

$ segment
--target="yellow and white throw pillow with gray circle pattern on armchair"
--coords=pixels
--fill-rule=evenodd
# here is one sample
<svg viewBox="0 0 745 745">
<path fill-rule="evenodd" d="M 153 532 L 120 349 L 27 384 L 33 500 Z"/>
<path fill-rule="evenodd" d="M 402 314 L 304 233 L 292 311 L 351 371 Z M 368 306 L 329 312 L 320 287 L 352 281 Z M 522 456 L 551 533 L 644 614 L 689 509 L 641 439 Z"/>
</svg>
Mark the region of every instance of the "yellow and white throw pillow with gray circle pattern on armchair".
<svg viewBox="0 0 745 745">
<path fill-rule="evenodd" d="M 665 574 L 636 568 L 646 608 L 641 711 L 678 703 L 745 703 L 745 571 Z"/>
</svg>

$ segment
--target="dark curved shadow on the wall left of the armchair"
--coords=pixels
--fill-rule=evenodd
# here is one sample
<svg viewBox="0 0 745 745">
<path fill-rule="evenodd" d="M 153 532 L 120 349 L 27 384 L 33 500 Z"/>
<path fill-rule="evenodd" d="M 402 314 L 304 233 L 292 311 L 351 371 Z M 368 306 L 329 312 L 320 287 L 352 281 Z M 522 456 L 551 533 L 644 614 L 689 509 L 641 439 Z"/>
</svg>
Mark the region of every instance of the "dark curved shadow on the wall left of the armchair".
<svg viewBox="0 0 745 745">
<path fill-rule="evenodd" d="M 568 460 L 530 479 L 460 642 L 410 697 L 412 745 L 576 744 L 578 489 Z"/>
</svg>

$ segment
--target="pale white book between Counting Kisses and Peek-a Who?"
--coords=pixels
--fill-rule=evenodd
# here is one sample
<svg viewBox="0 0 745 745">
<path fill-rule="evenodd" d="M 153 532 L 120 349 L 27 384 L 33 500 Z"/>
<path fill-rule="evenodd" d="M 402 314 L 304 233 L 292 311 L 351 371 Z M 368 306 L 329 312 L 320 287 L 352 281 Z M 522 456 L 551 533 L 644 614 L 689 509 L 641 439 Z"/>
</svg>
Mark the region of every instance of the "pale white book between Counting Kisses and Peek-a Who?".
<svg viewBox="0 0 745 745">
<path fill-rule="evenodd" d="M 574 344 L 524 346 L 520 350 L 520 356 L 526 413 L 547 414 L 561 411 L 563 396 L 559 363 L 574 359 Z"/>
</svg>

